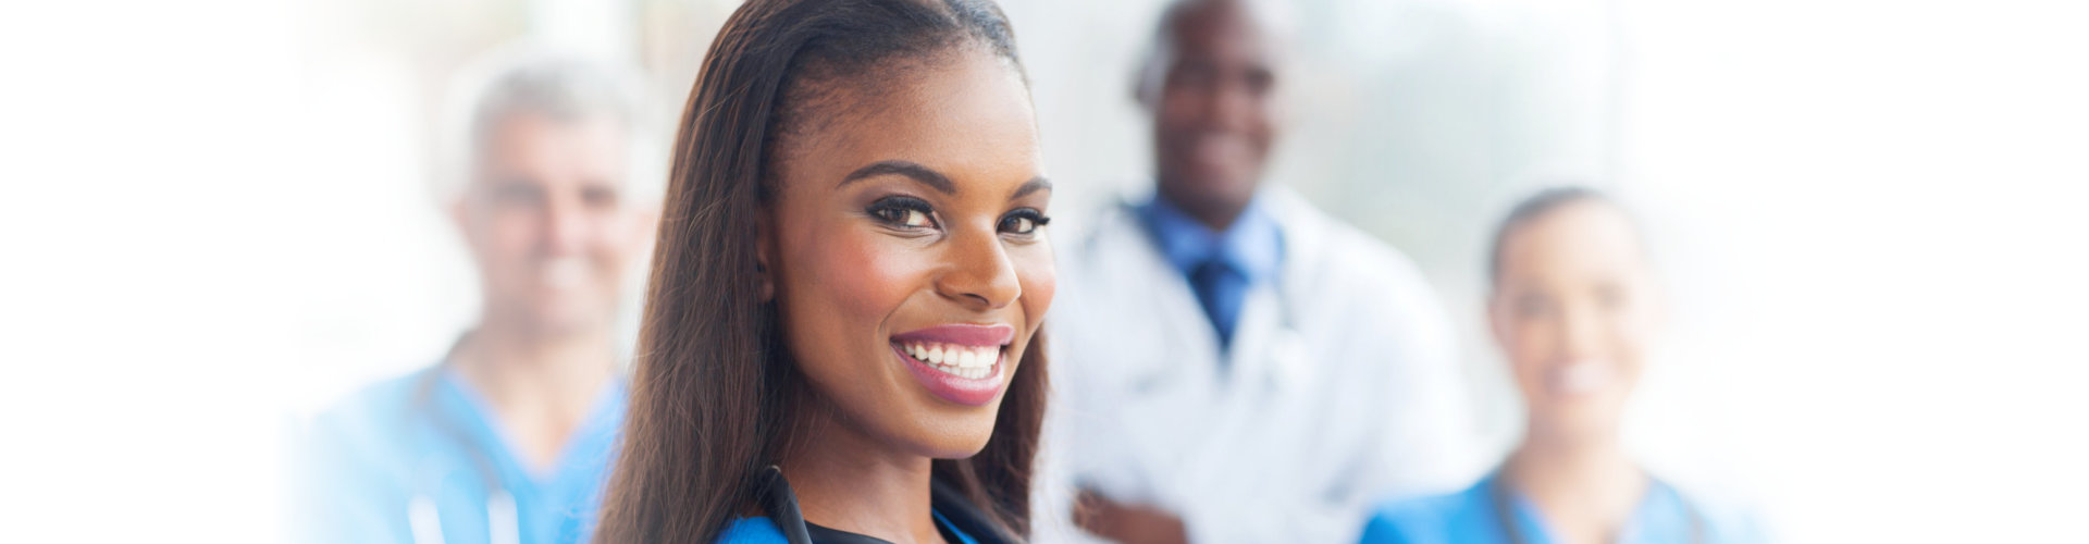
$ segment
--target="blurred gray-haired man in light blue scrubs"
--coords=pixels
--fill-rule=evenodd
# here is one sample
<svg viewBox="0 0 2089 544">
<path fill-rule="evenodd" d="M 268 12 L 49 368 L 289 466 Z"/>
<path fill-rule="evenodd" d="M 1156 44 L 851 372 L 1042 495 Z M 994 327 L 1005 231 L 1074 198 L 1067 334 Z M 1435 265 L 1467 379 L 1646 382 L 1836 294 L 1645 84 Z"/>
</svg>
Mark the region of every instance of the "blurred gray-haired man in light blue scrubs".
<svg viewBox="0 0 2089 544">
<path fill-rule="evenodd" d="M 437 195 L 476 264 L 478 322 L 311 421 L 292 531 L 313 542 L 591 534 L 625 416 L 618 301 L 658 226 L 641 92 L 531 48 L 460 80 Z"/>
</svg>

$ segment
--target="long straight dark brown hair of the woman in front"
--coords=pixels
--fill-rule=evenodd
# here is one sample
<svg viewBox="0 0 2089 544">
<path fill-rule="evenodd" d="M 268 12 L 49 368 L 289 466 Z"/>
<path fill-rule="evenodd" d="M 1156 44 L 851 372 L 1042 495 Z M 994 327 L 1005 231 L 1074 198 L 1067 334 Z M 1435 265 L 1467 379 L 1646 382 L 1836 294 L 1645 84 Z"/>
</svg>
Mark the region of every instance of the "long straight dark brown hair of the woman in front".
<svg viewBox="0 0 2089 544">
<path fill-rule="evenodd" d="M 867 77 L 907 71 L 871 67 L 963 46 L 1022 71 L 1007 17 L 988 0 L 750 0 L 725 21 L 675 140 L 631 414 L 595 542 L 702 544 L 758 511 L 756 475 L 779 460 L 806 387 L 756 272 L 756 220 L 777 195 L 775 140 L 800 126 L 806 88 L 875 90 Z M 1042 333 L 1030 341 L 986 448 L 932 471 L 1013 534 L 1030 529 L 1042 343 Z"/>
</svg>

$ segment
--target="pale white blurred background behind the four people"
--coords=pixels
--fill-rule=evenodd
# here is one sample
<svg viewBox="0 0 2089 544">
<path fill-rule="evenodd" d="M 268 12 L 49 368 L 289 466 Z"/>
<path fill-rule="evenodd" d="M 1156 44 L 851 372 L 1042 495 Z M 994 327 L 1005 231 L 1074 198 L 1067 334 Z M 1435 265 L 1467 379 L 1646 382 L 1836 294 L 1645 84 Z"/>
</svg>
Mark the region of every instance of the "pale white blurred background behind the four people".
<svg viewBox="0 0 2089 544">
<path fill-rule="evenodd" d="M 1159 4 L 1003 0 L 1067 222 L 1147 184 Z M 472 320 L 430 190 L 453 71 L 514 40 L 627 61 L 666 136 L 733 6 L 0 8 L 6 540 L 276 538 L 286 421 Z M 1627 427 L 1650 467 L 1788 542 L 2089 542 L 2089 6 L 1289 15 L 1272 180 L 1425 268 L 1496 448 L 1521 423 L 1483 337 L 1487 228 L 1590 182 L 1648 224 L 1673 299 Z"/>
</svg>

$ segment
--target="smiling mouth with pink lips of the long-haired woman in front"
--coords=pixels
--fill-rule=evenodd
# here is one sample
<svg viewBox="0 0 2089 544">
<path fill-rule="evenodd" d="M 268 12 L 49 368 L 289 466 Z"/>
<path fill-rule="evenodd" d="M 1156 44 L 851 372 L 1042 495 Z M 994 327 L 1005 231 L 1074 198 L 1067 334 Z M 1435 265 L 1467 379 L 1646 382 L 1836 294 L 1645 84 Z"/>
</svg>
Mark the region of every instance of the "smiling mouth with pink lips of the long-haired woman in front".
<svg viewBox="0 0 2089 544">
<path fill-rule="evenodd" d="M 892 354 L 915 381 L 942 400 L 986 406 L 1003 387 L 1003 362 L 1015 326 L 938 324 L 892 335 Z"/>
</svg>

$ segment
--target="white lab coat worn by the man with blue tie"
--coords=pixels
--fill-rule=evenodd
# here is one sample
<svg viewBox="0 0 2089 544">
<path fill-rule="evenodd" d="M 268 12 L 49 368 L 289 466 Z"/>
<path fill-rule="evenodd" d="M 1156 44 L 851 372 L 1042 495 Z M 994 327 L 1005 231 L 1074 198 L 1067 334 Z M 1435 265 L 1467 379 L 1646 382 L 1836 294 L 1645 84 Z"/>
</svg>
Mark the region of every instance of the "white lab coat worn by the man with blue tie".
<svg viewBox="0 0 2089 544">
<path fill-rule="evenodd" d="M 1178 513 L 1191 542 L 1356 542 L 1387 494 L 1479 473 L 1452 328 L 1421 270 L 1285 188 L 1258 197 L 1281 272 L 1245 295 L 1226 368 L 1189 280 L 1130 205 L 1057 239 L 1040 500 L 1074 485 Z M 1051 506 L 1051 504 L 1049 504 Z M 1067 538 L 1061 517 L 1040 542 Z"/>
</svg>

